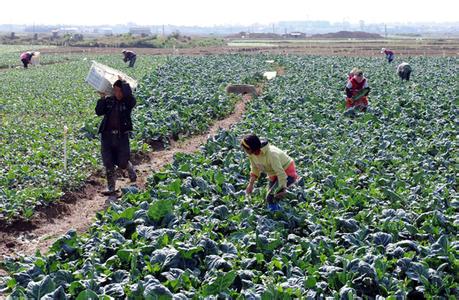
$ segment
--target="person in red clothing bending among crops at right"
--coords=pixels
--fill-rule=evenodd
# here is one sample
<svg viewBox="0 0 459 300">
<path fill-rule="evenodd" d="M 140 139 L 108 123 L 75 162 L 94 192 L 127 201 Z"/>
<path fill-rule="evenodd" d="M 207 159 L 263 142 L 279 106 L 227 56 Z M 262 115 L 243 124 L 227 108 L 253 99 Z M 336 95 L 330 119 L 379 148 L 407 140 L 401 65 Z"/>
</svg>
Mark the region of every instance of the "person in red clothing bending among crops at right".
<svg viewBox="0 0 459 300">
<path fill-rule="evenodd" d="M 368 81 L 363 76 L 362 70 L 355 70 L 352 79 L 346 84 L 346 109 L 355 107 L 361 111 L 366 111 L 368 107 L 367 95 L 370 93 Z"/>
</svg>

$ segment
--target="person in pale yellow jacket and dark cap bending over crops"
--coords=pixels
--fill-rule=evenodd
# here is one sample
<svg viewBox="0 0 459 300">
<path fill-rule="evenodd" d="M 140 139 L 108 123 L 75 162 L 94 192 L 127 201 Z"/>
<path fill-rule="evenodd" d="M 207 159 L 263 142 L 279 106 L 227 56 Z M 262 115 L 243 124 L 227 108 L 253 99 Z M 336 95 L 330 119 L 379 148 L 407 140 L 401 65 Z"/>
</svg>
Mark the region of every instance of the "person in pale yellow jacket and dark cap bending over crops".
<svg viewBox="0 0 459 300">
<path fill-rule="evenodd" d="M 246 193 L 251 194 L 260 174 L 268 174 L 269 189 L 266 201 L 270 211 L 280 210 L 277 200 L 281 199 L 286 188 L 298 180 L 295 162 L 284 151 L 269 144 L 267 141 L 250 134 L 241 141 L 241 146 L 249 156 L 250 180 Z"/>
</svg>

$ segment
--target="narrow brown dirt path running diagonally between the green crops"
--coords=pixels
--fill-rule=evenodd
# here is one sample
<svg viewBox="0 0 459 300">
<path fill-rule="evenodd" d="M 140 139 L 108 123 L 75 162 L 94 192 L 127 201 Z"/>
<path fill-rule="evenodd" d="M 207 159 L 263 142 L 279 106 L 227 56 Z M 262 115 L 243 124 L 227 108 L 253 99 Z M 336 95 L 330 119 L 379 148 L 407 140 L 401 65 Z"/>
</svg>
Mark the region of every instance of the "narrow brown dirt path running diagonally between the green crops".
<svg viewBox="0 0 459 300">
<path fill-rule="evenodd" d="M 236 104 L 234 112 L 223 120 L 216 121 L 209 131 L 202 135 L 193 136 L 184 141 L 172 142 L 169 149 L 152 152 L 141 164 L 136 165 L 138 181 L 137 186 L 144 188 L 147 177 L 154 171 L 158 171 L 172 162 L 177 152 L 192 153 L 199 146 L 215 135 L 219 128 L 228 129 L 232 124 L 242 118 L 245 104 L 250 96 L 244 96 L 242 101 Z M 97 212 L 105 209 L 108 198 L 100 194 L 105 188 L 102 174 L 93 176 L 87 181 L 84 189 L 63 197 L 61 203 L 41 209 L 37 217 L 30 222 L 16 222 L 6 229 L 0 230 L 0 260 L 4 256 L 31 255 L 37 250 L 41 253 L 53 242 L 65 234 L 69 229 L 85 232 L 94 222 Z M 129 186 L 131 183 L 126 178 L 117 180 L 117 187 Z M 2 275 L 0 269 L 0 276 Z"/>
</svg>

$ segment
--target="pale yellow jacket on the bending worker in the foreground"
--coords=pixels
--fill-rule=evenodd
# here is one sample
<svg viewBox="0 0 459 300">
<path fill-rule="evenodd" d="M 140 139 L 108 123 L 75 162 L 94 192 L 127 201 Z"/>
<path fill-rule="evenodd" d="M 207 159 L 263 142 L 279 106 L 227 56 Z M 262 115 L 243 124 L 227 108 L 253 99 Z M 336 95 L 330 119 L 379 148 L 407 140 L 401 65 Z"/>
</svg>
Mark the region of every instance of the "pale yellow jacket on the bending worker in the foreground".
<svg viewBox="0 0 459 300">
<path fill-rule="evenodd" d="M 284 151 L 276 146 L 267 144 L 261 147 L 259 155 L 249 155 L 250 174 L 260 177 L 261 172 L 268 176 L 277 176 L 279 187 L 287 187 L 285 169 L 293 161 Z"/>
</svg>

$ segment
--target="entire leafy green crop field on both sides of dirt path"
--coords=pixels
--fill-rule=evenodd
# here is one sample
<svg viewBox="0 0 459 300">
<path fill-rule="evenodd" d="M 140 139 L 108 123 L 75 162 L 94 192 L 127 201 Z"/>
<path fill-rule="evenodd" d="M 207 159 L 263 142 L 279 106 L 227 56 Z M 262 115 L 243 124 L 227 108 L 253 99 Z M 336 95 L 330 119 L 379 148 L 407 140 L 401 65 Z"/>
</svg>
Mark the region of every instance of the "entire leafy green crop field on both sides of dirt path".
<svg viewBox="0 0 459 300">
<path fill-rule="evenodd" d="M 381 58 L 222 55 L 139 64 L 130 74 L 142 76 L 136 149 L 205 131 L 237 101 L 224 86 L 261 83 L 267 59 L 285 74 L 262 82 L 239 124 L 198 153 L 177 154 L 146 190 L 126 190 L 87 233 L 69 230 L 46 255 L 4 260 L 9 275 L 0 290 L 12 299 L 457 299 L 456 58 L 409 58 L 409 82 Z M 28 76 L 59 80 L 88 66 Z M 344 114 L 354 66 L 372 88 L 370 109 Z M 58 199 L 66 184 L 88 176 L 83 166 L 100 164 L 89 88 L 69 76 L 30 91 L 15 72 L 0 73 L 8 82 L 0 97 L 7 129 L 0 213 L 10 218 L 17 209 L 33 213 L 49 191 Z M 60 155 L 64 122 L 78 124 L 67 177 L 49 157 Z M 280 212 L 265 208 L 266 180 L 245 195 L 249 165 L 239 140 L 249 132 L 285 149 L 303 178 Z M 33 195 L 45 196 L 18 197 L 38 188 Z"/>
</svg>

